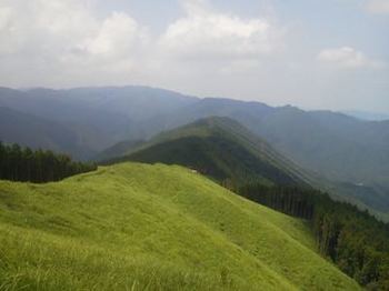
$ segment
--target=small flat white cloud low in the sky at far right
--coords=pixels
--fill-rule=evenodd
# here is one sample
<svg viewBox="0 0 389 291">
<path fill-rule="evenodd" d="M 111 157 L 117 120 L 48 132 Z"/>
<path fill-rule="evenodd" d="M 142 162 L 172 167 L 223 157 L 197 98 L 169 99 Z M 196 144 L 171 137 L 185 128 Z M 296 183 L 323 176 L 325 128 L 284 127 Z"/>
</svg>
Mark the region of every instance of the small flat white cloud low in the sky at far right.
<svg viewBox="0 0 389 291">
<path fill-rule="evenodd" d="M 318 60 L 341 69 L 377 69 L 383 66 L 382 62 L 369 59 L 363 52 L 350 47 L 325 49 L 319 52 Z"/>
</svg>

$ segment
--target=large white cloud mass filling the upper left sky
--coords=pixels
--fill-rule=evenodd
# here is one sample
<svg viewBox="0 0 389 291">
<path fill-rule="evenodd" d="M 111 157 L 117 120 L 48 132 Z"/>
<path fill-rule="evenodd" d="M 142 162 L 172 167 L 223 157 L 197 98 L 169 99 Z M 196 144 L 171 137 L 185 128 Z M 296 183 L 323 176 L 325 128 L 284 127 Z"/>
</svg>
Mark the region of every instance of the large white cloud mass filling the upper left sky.
<svg viewBox="0 0 389 291">
<path fill-rule="evenodd" d="M 11 78 L 4 71 L 14 70 L 26 83 L 80 81 L 80 77 L 93 82 L 93 78 L 103 80 L 112 72 L 130 73 L 147 40 L 146 29 L 124 12 L 99 18 L 89 2 L 2 1 L 0 78 Z M 48 71 L 48 78 L 37 80 Z"/>
</svg>

